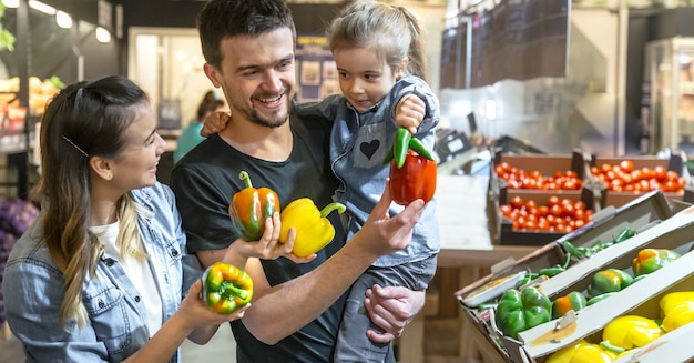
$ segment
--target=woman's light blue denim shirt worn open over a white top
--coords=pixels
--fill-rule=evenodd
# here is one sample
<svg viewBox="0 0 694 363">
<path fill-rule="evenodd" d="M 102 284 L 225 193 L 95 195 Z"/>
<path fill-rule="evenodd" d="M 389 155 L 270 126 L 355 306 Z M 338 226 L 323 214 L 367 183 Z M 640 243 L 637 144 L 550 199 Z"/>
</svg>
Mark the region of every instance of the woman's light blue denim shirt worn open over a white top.
<svg viewBox="0 0 694 363">
<path fill-rule="evenodd" d="M 156 183 L 134 190 L 132 195 L 165 322 L 178 309 L 182 294 L 200 278 L 202 268 L 194 256 L 186 255 L 171 189 Z M 62 273 L 43 241 L 42 220 L 40 215 L 12 249 L 2 284 L 8 323 L 23 343 L 27 362 L 123 361 L 150 340 L 140 293 L 122 265 L 102 255 L 95 274 L 88 275 L 82 288 L 86 325 L 81 330 L 74 321 L 60 325 Z M 180 355 L 178 350 L 170 362 L 181 362 Z"/>
</svg>

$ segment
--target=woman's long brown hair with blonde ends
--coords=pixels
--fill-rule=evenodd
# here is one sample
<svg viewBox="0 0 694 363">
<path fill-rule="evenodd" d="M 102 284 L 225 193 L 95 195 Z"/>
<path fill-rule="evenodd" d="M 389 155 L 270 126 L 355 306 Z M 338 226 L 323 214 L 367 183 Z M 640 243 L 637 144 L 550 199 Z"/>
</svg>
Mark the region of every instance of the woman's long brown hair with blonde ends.
<svg viewBox="0 0 694 363">
<path fill-rule="evenodd" d="M 48 104 L 41 120 L 41 178 L 32 198 L 43 211 L 45 244 L 63 273 L 64 296 L 59 320 L 63 326 L 88 322 L 82 286 L 94 276 L 102 254 L 90 232 L 92 157 L 118 159 L 125 147 L 125 130 L 149 107 L 145 92 L 124 77 L 114 75 L 69 85 Z M 118 202 L 123 255 L 145 258 L 137 228 L 135 202 L 129 194 Z"/>
</svg>

